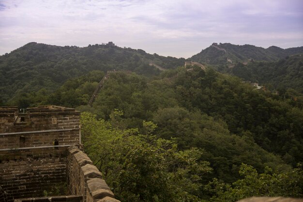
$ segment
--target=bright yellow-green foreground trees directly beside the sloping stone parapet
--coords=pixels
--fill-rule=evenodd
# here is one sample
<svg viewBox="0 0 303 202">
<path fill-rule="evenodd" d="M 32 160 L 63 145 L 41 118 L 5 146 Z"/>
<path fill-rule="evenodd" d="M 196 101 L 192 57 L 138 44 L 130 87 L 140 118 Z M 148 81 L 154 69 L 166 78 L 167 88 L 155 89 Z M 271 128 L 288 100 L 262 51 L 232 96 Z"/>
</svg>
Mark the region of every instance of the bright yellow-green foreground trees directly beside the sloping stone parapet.
<svg viewBox="0 0 303 202">
<path fill-rule="evenodd" d="M 202 150 L 178 152 L 176 144 L 151 134 L 152 122 L 145 122 L 148 135 L 121 130 L 116 127 L 120 115 L 117 110 L 110 115 L 111 125 L 91 113 L 81 114 L 85 151 L 115 195 L 125 202 L 200 201 L 199 181 L 211 171 L 208 162 L 199 160 Z"/>
</svg>

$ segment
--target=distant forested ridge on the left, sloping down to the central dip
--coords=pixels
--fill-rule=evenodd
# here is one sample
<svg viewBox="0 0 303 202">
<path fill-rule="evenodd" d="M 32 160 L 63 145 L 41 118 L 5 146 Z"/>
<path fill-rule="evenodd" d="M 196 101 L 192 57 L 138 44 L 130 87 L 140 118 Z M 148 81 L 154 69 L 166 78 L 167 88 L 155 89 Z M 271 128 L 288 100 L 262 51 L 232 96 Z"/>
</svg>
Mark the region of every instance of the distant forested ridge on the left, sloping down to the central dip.
<svg viewBox="0 0 303 202">
<path fill-rule="evenodd" d="M 185 59 L 148 54 L 144 50 L 121 48 L 114 44 L 51 46 L 29 43 L 0 56 L 0 97 L 2 102 L 22 93 L 58 89 L 68 78 L 79 77 L 92 70 L 129 70 L 139 74 L 156 74 L 163 68 L 175 68 Z"/>
</svg>

